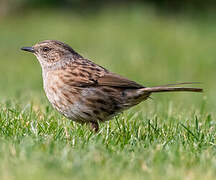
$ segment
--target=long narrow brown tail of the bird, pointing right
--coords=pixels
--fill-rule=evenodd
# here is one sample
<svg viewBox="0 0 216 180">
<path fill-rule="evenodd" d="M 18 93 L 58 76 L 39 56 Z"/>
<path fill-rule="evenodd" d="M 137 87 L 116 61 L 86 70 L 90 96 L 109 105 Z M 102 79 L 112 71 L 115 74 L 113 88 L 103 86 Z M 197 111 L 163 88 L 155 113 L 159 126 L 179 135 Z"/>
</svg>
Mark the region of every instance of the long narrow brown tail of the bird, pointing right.
<svg viewBox="0 0 216 180">
<path fill-rule="evenodd" d="M 191 84 L 191 83 L 179 83 L 173 85 L 182 85 L 182 84 Z M 172 84 L 171 84 L 172 85 Z M 143 89 L 144 92 L 172 92 L 172 91 L 189 91 L 189 92 L 203 92 L 202 88 L 191 88 L 191 87 L 169 87 L 170 85 L 166 86 L 156 86 L 156 87 L 146 87 Z"/>
</svg>

